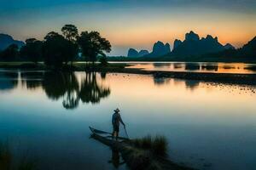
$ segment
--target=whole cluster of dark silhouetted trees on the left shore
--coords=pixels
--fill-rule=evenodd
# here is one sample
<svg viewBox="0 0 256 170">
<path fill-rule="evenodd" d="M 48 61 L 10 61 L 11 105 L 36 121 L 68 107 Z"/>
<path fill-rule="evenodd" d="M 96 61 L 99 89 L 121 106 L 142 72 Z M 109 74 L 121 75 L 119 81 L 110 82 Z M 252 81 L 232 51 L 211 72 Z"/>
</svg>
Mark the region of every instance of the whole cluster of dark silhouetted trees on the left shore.
<svg viewBox="0 0 256 170">
<path fill-rule="evenodd" d="M 106 63 L 106 54 L 111 51 L 110 42 L 101 37 L 97 31 L 82 31 L 79 35 L 78 28 L 65 25 L 61 28 L 62 34 L 50 31 L 44 41 L 29 38 L 25 45 L 19 47 L 11 44 L 0 53 L 2 61 L 26 60 L 38 63 L 44 61 L 45 65 L 61 67 L 71 65 L 74 60 L 96 62 L 101 59 Z"/>
</svg>

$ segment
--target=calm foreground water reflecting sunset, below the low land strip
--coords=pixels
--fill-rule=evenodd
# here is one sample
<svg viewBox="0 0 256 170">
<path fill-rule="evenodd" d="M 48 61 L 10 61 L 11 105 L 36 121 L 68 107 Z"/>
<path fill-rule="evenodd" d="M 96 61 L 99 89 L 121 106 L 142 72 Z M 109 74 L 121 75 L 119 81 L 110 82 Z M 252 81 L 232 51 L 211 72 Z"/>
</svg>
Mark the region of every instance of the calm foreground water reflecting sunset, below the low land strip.
<svg viewBox="0 0 256 170">
<path fill-rule="evenodd" d="M 165 135 L 173 161 L 253 170 L 255 93 L 255 87 L 141 75 L 0 71 L 0 139 L 38 169 L 115 169 L 112 151 L 90 139 L 88 127 L 111 131 L 119 107 L 131 138 Z"/>
</svg>

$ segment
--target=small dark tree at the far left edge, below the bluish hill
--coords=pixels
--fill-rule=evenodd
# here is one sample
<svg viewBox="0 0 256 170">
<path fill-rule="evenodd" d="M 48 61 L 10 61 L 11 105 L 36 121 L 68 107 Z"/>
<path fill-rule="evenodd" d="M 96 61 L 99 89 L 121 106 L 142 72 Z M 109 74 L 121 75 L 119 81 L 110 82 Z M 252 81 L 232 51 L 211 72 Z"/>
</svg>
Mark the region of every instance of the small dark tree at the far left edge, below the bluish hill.
<svg viewBox="0 0 256 170">
<path fill-rule="evenodd" d="M 11 44 L 8 48 L 1 52 L 0 58 L 3 61 L 14 61 L 19 55 L 19 47 L 16 44 Z"/>
</svg>

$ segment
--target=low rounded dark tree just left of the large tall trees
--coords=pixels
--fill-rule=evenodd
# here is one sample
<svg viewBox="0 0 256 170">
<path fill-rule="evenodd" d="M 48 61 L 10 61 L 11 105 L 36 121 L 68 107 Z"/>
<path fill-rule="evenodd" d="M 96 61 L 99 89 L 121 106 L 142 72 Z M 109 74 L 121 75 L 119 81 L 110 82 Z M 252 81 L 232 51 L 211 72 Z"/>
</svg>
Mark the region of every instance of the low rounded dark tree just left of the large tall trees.
<svg viewBox="0 0 256 170">
<path fill-rule="evenodd" d="M 38 64 L 42 59 L 43 42 L 36 38 L 29 38 L 26 40 L 26 45 L 20 48 L 20 54 L 26 56 L 28 60 Z"/>
</svg>

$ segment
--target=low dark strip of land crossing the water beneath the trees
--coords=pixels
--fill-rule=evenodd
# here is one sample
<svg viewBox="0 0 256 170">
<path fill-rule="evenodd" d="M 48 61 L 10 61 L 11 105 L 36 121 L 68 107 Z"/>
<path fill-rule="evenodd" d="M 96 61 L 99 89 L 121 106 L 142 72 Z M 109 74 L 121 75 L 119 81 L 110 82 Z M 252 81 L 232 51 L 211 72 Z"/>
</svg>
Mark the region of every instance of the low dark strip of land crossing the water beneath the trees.
<svg viewBox="0 0 256 170">
<path fill-rule="evenodd" d="M 94 65 L 74 62 L 73 65 L 63 65 L 59 71 L 96 71 L 103 73 L 127 73 L 151 75 L 154 78 L 177 78 L 184 80 L 195 80 L 201 82 L 221 82 L 241 85 L 256 85 L 256 74 L 237 74 L 237 73 L 209 73 L 209 72 L 187 72 L 187 71 L 144 71 L 137 68 L 125 68 L 126 63 L 108 63 Z M 0 62 L 2 69 L 18 69 L 29 71 L 51 71 L 43 63 L 34 64 L 32 62 Z M 254 70 L 255 68 L 248 68 Z"/>
</svg>

